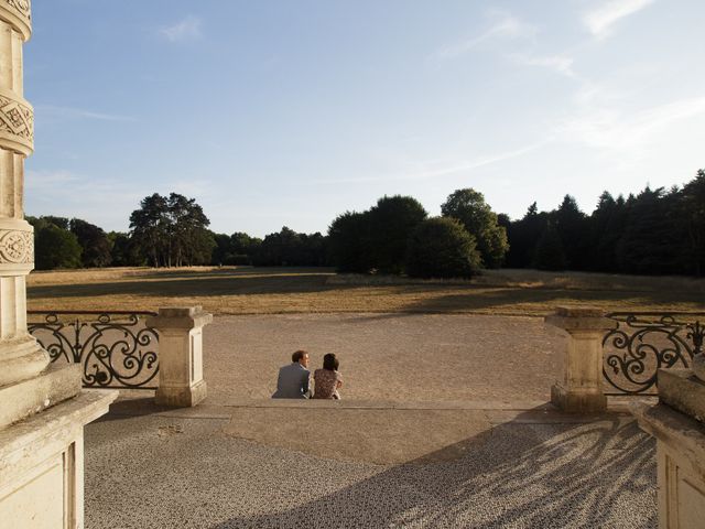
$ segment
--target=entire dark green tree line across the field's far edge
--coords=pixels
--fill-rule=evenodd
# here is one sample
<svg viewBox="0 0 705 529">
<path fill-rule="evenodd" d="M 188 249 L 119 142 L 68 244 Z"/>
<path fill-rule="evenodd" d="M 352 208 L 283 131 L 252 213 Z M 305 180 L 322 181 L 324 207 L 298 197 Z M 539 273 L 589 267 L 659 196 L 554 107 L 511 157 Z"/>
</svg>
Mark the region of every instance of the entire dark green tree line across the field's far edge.
<svg viewBox="0 0 705 529">
<path fill-rule="evenodd" d="M 682 187 L 647 186 L 627 197 L 604 192 L 595 209 L 571 195 L 549 212 L 531 204 L 512 220 L 481 193 L 456 190 L 430 217 L 410 196 L 384 196 L 345 212 L 321 233 L 288 227 L 263 239 L 217 234 L 194 198 L 144 197 L 129 233 L 79 218 L 28 217 L 37 269 L 90 267 L 334 266 L 343 272 L 471 277 L 482 268 L 536 268 L 638 274 L 705 272 L 705 170 Z"/>
</svg>

